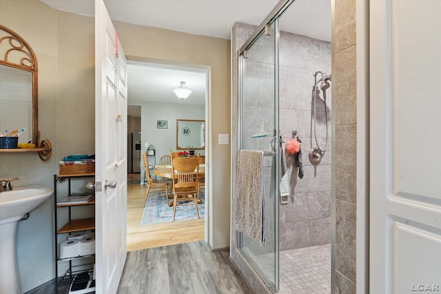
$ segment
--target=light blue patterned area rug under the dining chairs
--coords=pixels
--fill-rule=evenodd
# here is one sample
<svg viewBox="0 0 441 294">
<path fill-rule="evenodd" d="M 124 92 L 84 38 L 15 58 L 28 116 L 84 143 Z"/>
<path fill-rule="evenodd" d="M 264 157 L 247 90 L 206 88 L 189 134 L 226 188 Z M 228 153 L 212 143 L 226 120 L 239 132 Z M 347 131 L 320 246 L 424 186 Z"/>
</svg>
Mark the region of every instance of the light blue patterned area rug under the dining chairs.
<svg viewBox="0 0 441 294">
<path fill-rule="evenodd" d="M 201 204 L 198 204 L 199 216 L 205 217 L 205 194 L 201 191 L 199 195 Z M 143 224 L 163 224 L 165 222 L 177 222 L 180 220 L 196 220 L 198 215 L 194 205 L 183 205 L 176 207 L 176 220 L 173 220 L 173 207 L 167 205 L 165 195 L 152 196 L 152 193 L 147 198 L 147 204 L 141 218 L 141 225 Z"/>
</svg>

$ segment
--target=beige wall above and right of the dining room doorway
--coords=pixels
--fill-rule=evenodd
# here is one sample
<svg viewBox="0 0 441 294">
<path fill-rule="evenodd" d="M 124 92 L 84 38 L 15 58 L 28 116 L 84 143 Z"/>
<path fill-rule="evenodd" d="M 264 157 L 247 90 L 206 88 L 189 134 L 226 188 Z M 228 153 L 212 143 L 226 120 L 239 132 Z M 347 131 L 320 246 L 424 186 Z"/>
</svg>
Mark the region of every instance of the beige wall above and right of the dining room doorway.
<svg viewBox="0 0 441 294">
<path fill-rule="evenodd" d="M 229 40 L 118 21 L 114 25 L 127 56 L 135 56 L 137 60 L 158 59 L 211 68 L 212 99 L 207 130 L 209 138 L 212 138 L 207 155 L 213 170 L 209 176 L 208 193 L 212 199 L 209 243 L 213 249 L 229 246 L 230 149 L 229 145 L 218 145 L 217 140 L 218 134 L 227 134 L 230 129 Z"/>
</svg>

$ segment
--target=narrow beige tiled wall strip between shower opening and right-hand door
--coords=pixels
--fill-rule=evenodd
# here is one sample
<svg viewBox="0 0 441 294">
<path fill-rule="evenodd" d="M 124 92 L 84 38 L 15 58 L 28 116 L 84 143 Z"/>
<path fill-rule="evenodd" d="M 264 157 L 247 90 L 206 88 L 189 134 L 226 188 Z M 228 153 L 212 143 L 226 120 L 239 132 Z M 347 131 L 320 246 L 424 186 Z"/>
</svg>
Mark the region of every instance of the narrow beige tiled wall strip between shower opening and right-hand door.
<svg viewBox="0 0 441 294">
<path fill-rule="evenodd" d="M 335 116 L 336 293 L 356 293 L 356 1 L 336 0 Z"/>
</svg>

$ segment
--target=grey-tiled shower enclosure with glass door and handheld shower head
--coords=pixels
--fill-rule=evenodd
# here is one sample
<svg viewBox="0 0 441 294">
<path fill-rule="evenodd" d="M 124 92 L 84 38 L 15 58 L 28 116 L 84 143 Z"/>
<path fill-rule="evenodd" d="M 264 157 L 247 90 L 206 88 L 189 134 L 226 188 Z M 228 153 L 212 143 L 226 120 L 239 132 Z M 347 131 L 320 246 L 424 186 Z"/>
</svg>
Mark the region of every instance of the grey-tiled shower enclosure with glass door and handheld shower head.
<svg viewBox="0 0 441 294">
<path fill-rule="evenodd" d="M 292 3 L 280 1 L 259 27 L 236 23 L 232 35 L 238 50 L 233 61 L 238 66 L 233 187 L 238 151 L 264 153 L 262 246 L 234 229 L 232 211 L 230 255 L 254 293 L 331 292 L 331 44 L 279 29 L 284 13 L 295 9 Z M 293 134 L 301 141 L 302 166 L 298 156 L 285 156 L 285 203 L 279 196 L 280 143 L 288 143 Z M 232 194 L 234 202 L 234 189 Z"/>
</svg>

